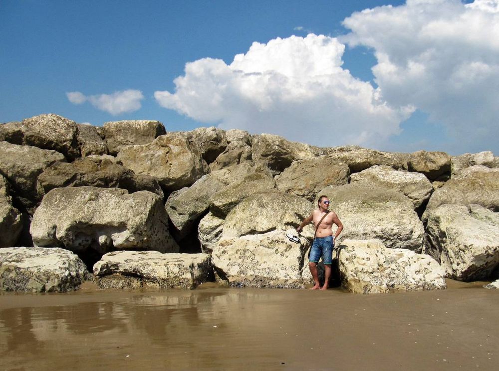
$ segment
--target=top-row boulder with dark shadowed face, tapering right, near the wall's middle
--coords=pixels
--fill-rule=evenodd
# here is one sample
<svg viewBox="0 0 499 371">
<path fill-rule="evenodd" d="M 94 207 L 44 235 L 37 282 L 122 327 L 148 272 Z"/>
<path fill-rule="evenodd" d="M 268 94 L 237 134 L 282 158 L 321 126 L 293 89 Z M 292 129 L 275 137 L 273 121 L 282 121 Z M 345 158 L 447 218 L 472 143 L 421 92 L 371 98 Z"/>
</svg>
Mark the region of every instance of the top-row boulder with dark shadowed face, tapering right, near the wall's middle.
<svg viewBox="0 0 499 371">
<path fill-rule="evenodd" d="M 314 158 L 322 152 L 317 147 L 289 142 L 283 137 L 272 134 L 257 135 L 251 145 L 253 161 L 267 166 L 273 175 L 282 172 L 294 160 Z"/>
</svg>

